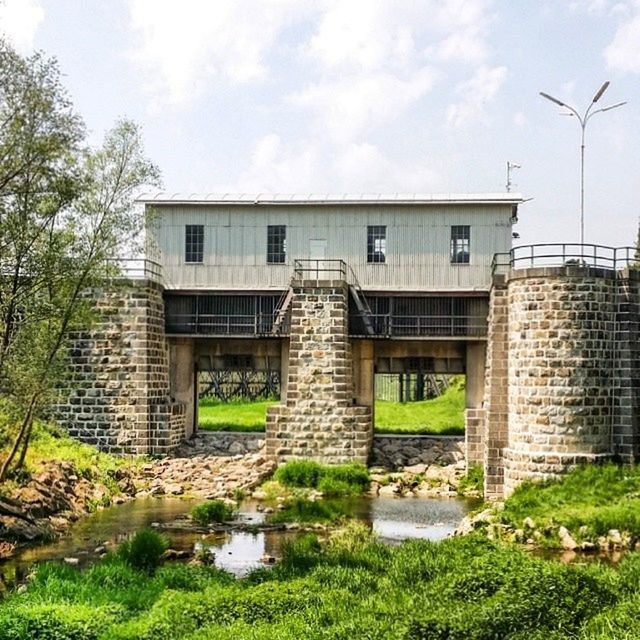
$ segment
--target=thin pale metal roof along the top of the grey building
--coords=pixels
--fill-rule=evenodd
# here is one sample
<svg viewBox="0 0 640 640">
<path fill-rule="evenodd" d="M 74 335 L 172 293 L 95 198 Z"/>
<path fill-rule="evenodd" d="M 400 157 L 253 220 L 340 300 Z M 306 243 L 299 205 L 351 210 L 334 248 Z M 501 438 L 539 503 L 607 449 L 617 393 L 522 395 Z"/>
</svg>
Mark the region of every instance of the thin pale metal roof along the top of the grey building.
<svg viewBox="0 0 640 640">
<path fill-rule="evenodd" d="M 378 194 L 286 194 L 286 193 L 143 193 L 136 202 L 190 205 L 340 205 L 340 204 L 519 204 L 519 193 L 378 193 Z"/>
</svg>

